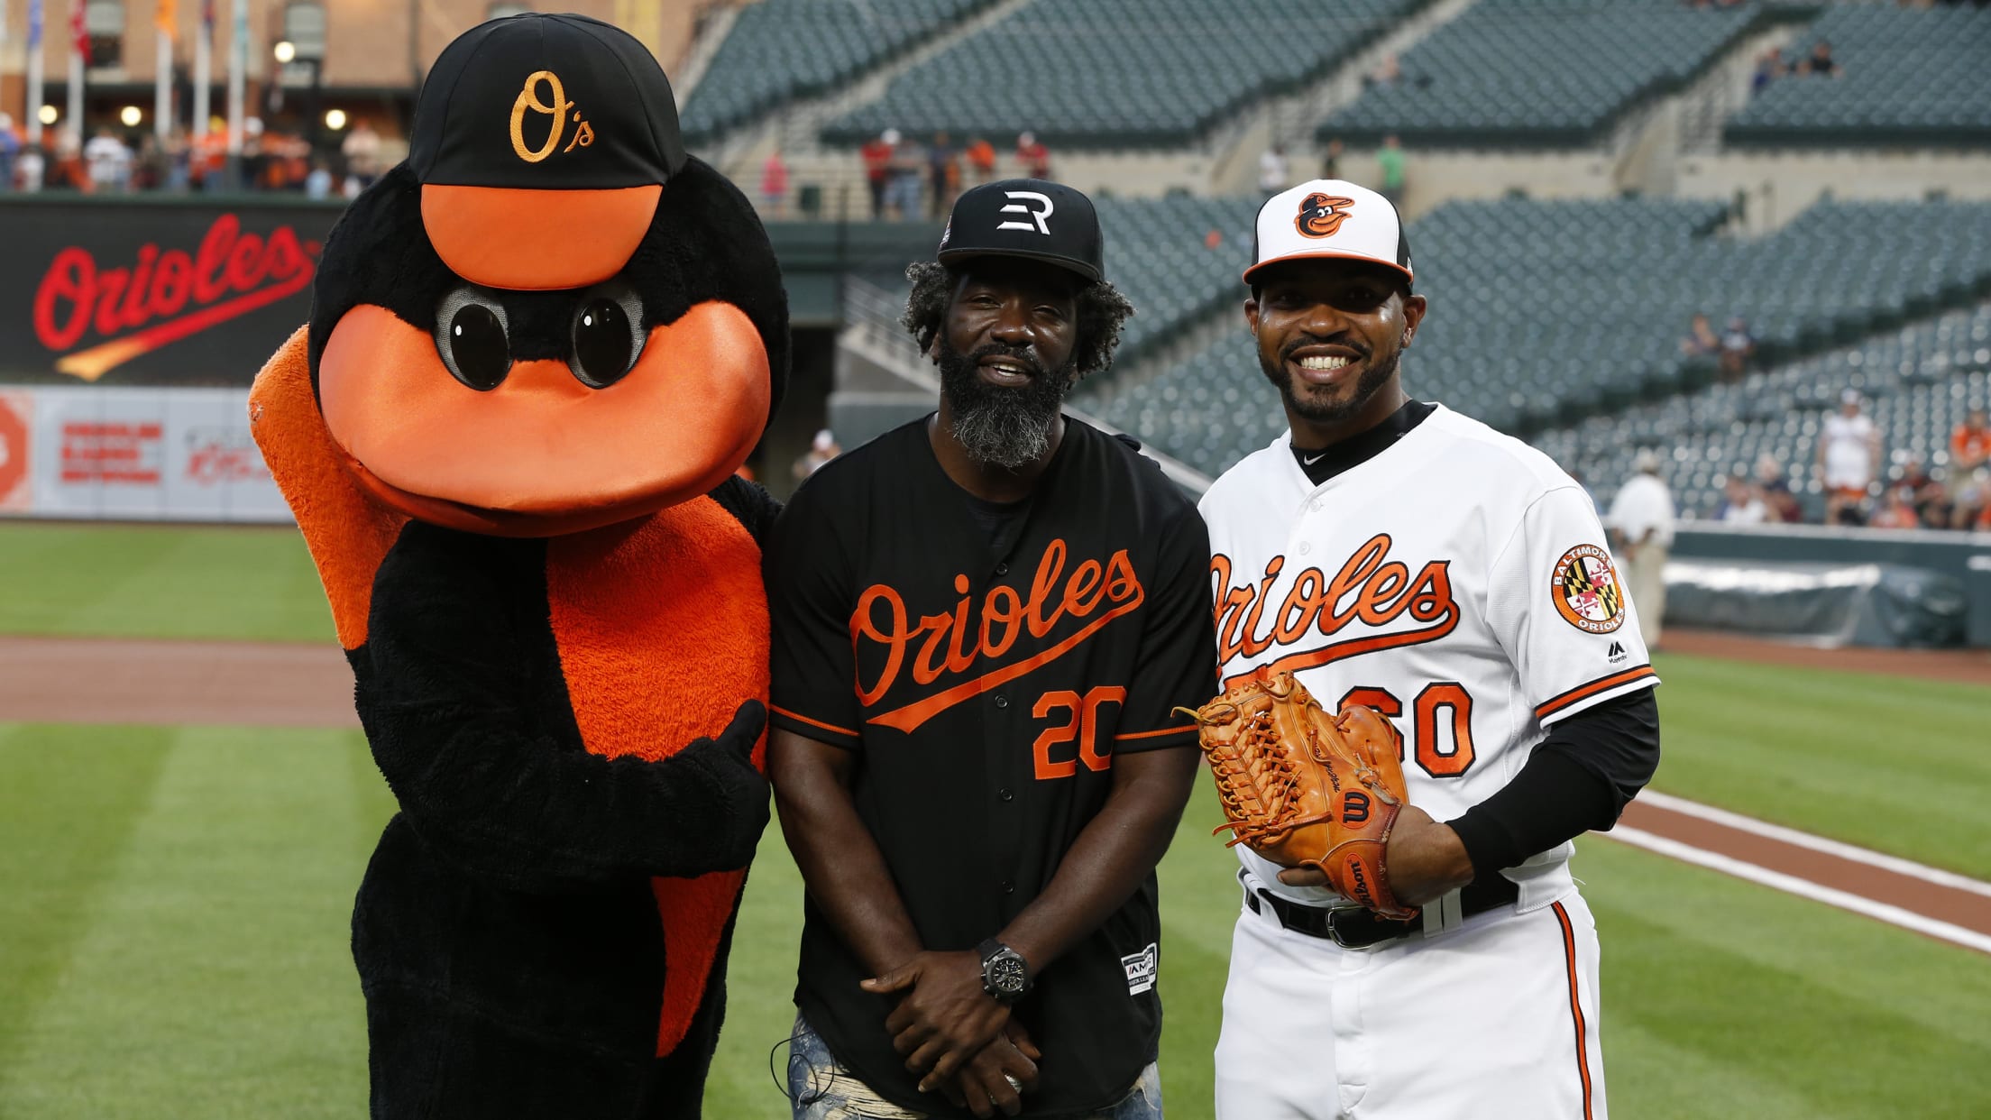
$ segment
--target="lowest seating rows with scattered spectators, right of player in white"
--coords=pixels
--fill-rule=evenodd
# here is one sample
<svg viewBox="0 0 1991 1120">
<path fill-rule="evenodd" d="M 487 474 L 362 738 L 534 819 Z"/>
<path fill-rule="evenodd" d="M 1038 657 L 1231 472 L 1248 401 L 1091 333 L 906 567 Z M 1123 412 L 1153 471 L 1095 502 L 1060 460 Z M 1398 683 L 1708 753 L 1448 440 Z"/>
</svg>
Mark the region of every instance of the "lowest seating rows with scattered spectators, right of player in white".
<svg viewBox="0 0 1991 1120">
<path fill-rule="evenodd" d="M 1659 448 L 1670 460 L 1664 474 L 1674 504 L 1698 516 L 1720 504 L 1722 476 L 1750 474 L 1756 458 L 1768 454 L 1786 468 L 1816 518 L 1818 430 L 1846 389 L 1868 399 L 1866 411 L 1893 464 L 1915 454 L 1939 470 L 1963 415 L 1991 407 L 1991 305 L 1925 319 L 1736 385 L 1547 430 L 1533 442 L 1605 502 L 1631 478 L 1637 450 Z"/>
</svg>

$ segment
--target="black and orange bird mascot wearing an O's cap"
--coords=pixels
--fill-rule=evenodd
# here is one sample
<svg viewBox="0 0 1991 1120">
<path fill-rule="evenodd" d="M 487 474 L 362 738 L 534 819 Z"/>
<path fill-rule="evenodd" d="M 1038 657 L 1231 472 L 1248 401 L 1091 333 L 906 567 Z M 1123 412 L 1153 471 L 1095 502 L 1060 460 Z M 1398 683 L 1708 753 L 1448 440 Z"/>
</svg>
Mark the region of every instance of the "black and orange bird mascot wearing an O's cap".
<svg viewBox="0 0 1991 1120">
<path fill-rule="evenodd" d="M 699 1114 L 786 315 L 657 62 L 579 16 L 450 44 L 327 241 L 251 419 L 400 803 L 352 911 L 374 1116 Z"/>
</svg>

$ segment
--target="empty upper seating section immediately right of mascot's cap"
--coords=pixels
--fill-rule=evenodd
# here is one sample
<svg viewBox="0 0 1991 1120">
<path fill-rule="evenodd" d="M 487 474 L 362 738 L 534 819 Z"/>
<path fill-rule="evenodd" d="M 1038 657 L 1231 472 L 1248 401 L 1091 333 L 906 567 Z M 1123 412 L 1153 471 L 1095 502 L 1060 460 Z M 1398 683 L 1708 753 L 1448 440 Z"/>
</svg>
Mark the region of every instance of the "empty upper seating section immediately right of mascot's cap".
<svg viewBox="0 0 1991 1120">
<path fill-rule="evenodd" d="M 994 0 L 759 0 L 741 8 L 685 104 L 687 143 L 820 94 Z"/>
</svg>

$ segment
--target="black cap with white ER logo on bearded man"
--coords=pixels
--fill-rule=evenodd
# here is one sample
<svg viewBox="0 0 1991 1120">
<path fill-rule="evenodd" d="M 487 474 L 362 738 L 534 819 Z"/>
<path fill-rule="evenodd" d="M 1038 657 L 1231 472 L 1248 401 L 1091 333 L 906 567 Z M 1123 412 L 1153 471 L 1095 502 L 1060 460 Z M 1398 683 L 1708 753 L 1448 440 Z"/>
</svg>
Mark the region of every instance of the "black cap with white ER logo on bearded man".
<svg viewBox="0 0 1991 1120">
<path fill-rule="evenodd" d="M 1003 179 L 962 191 L 948 231 L 940 235 L 942 265 L 972 257 L 1025 257 L 1105 279 L 1105 239 L 1093 199 L 1045 179 Z"/>
</svg>

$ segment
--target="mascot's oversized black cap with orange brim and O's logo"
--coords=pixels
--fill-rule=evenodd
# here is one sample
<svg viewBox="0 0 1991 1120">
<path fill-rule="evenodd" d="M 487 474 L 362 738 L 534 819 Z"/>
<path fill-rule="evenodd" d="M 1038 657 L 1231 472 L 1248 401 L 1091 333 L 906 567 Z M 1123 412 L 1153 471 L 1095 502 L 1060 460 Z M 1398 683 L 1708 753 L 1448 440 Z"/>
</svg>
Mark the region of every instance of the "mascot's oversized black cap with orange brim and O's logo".
<svg viewBox="0 0 1991 1120">
<path fill-rule="evenodd" d="M 683 165 L 663 68 L 587 16 L 530 12 L 464 32 L 422 84 L 408 140 L 436 253 L 504 289 L 621 271 Z"/>
</svg>

